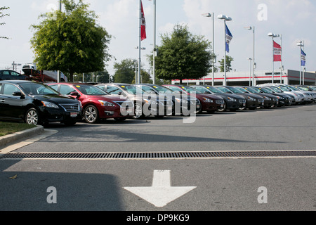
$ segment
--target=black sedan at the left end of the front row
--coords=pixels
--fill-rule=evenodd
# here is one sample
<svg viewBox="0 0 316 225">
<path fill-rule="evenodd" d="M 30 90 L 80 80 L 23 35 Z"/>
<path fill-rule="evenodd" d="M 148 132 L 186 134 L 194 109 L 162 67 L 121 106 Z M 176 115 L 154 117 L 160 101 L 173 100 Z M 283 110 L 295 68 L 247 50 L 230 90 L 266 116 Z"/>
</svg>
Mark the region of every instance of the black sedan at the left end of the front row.
<svg viewBox="0 0 316 225">
<path fill-rule="evenodd" d="M 51 87 L 30 81 L 0 81 L 0 120 L 22 120 L 27 124 L 81 120 L 81 103 L 62 96 Z"/>
</svg>

